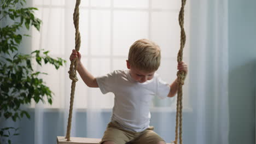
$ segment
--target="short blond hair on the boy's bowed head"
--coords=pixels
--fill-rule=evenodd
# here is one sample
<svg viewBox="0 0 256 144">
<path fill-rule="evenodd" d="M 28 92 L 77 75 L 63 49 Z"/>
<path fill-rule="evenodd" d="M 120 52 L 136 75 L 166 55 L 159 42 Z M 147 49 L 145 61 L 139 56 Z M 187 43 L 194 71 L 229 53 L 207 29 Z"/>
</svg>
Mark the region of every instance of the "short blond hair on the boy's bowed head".
<svg viewBox="0 0 256 144">
<path fill-rule="evenodd" d="M 139 70 L 156 71 L 161 61 L 160 47 L 148 39 L 139 39 L 131 45 L 128 61 Z"/>
</svg>

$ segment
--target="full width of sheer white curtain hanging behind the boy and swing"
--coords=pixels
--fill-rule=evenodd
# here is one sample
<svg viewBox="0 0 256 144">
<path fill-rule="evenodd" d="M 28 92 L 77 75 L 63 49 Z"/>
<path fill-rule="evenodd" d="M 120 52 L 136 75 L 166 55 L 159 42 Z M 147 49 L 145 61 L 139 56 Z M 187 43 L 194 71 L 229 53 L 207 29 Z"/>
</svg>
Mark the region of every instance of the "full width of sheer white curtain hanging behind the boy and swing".
<svg viewBox="0 0 256 144">
<path fill-rule="evenodd" d="M 55 143 L 56 136 L 66 135 L 71 90 L 67 71 L 68 58 L 74 49 L 75 2 L 49 0 L 33 1 L 33 4 L 39 8 L 37 16 L 43 20 L 43 25 L 40 32 L 33 31 L 32 49 L 50 50 L 50 55 L 65 58 L 68 62 L 58 71 L 47 65 L 37 67 L 50 74 L 43 79 L 55 93 L 54 103 L 52 106 L 32 106 L 32 138 L 24 134 L 21 141 Z M 162 47 L 163 58 L 158 73 L 167 82 L 172 82 L 176 77 L 179 48 L 177 17 L 180 4 L 168 0 L 82 1 L 80 52 L 85 67 L 95 76 L 114 69 L 126 69 L 129 46 L 139 38 L 149 38 Z M 228 1 L 188 1 L 186 10 L 184 61 L 189 64 L 189 74 L 184 86 L 183 142 L 226 144 L 229 143 Z M 170 47 L 175 48 L 170 50 Z M 114 96 L 102 95 L 97 88 L 87 88 L 78 78 L 71 136 L 100 138 L 109 122 Z M 154 99 L 152 104 L 150 124 L 166 142 L 174 140 L 175 136 L 175 99 Z M 21 122 L 31 125 L 28 123 Z M 29 129 L 25 128 L 23 132 L 26 130 Z"/>
</svg>

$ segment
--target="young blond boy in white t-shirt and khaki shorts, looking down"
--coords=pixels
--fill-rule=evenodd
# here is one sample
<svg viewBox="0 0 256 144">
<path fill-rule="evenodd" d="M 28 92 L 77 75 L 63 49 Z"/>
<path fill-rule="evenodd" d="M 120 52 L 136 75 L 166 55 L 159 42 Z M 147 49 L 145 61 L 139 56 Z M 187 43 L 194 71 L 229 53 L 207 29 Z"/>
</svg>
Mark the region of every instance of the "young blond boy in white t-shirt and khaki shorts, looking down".
<svg viewBox="0 0 256 144">
<path fill-rule="evenodd" d="M 177 79 L 168 85 L 155 74 L 161 59 L 158 45 L 147 39 L 135 41 L 126 60 L 127 70 L 115 70 L 100 77 L 92 76 L 80 62 L 80 53 L 73 50 L 69 59 L 75 57 L 78 57 L 77 71 L 87 86 L 115 95 L 112 118 L 101 143 L 165 143 L 153 131 L 154 127 L 149 126 L 150 102 L 155 95 L 173 97 L 177 93 Z M 179 63 L 178 70 L 187 73 L 187 64 Z"/>
</svg>

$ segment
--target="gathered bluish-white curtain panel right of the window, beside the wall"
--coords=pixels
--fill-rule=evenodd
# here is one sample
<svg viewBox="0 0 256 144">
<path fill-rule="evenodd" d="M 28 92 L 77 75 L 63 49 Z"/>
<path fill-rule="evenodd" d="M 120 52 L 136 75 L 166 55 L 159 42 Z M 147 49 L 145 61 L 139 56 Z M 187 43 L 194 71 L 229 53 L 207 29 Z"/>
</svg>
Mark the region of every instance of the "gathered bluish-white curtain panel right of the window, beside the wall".
<svg viewBox="0 0 256 144">
<path fill-rule="evenodd" d="M 195 143 L 229 143 L 228 1 L 193 1 L 191 21 Z"/>
</svg>

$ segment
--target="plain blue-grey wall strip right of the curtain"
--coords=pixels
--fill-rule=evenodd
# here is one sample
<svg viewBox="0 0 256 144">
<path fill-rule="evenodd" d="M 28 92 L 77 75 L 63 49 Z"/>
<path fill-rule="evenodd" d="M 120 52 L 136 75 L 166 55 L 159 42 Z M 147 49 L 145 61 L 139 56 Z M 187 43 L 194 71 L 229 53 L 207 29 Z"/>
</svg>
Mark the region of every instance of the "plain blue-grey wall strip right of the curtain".
<svg viewBox="0 0 256 144">
<path fill-rule="evenodd" d="M 255 142 L 256 1 L 229 1 L 230 143 Z"/>
</svg>

